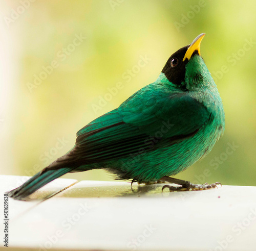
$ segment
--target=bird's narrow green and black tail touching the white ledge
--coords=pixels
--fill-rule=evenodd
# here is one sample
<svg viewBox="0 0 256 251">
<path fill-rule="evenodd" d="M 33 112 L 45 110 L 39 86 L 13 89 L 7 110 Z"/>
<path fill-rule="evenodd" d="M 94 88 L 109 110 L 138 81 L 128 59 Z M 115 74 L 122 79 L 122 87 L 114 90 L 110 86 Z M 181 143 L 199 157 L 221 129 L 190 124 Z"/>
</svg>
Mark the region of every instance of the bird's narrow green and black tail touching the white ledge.
<svg viewBox="0 0 256 251">
<path fill-rule="evenodd" d="M 74 167 L 70 168 L 60 168 L 60 169 L 43 169 L 36 173 L 33 177 L 31 177 L 28 181 L 26 181 L 23 185 L 20 187 L 17 187 L 9 192 L 7 194 L 9 197 L 12 197 L 14 199 L 22 200 L 25 197 L 29 196 L 33 192 L 35 192 L 37 189 L 41 188 L 42 186 L 45 186 L 47 183 L 59 178 L 61 175 L 73 170 Z"/>
</svg>

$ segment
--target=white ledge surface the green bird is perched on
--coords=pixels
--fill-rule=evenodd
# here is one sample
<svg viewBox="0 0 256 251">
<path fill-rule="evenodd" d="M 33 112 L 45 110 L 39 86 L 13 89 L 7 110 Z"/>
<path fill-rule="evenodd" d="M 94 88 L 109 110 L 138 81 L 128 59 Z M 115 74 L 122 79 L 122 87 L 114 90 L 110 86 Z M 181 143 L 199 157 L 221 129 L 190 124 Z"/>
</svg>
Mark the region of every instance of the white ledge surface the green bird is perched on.
<svg viewBox="0 0 256 251">
<path fill-rule="evenodd" d="M 27 179 L 0 175 L 1 201 Z M 9 250 L 256 250 L 256 187 L 163 185 L 57 179 L 28 201 L 9 198 Z"/>
</svg>

